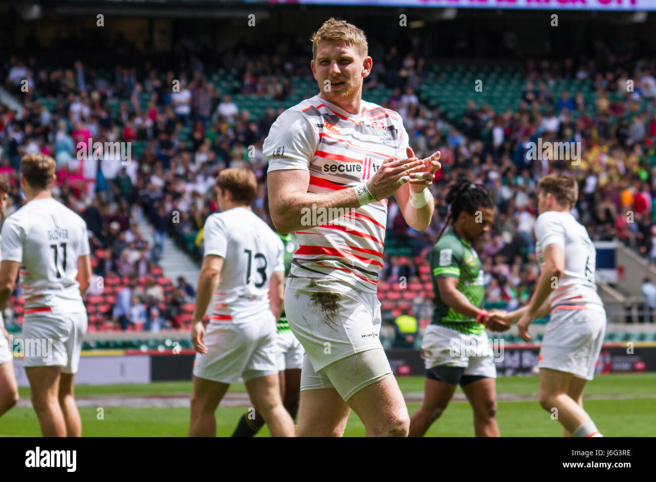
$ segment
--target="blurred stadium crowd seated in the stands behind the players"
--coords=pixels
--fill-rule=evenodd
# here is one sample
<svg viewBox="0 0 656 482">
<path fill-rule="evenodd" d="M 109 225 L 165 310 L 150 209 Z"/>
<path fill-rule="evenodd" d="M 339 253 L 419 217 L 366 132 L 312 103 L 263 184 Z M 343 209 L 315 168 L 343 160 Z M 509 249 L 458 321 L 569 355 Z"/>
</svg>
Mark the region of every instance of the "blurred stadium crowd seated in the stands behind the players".
<svg viewBox="0 0 656 482">
<path fill-rule="evenodd" d="M 194 292 L 184 279 L 176 286 L 171 280 L 159 284 L 166 280 L 157 267 L 163 239 L 173 237 L 181 249 L 201 259 L 202 228 L 218 209 L 214 183 L 222 169 L 255 171 L 260 186 L 253 209 L 264 218 L 262 142 L 282 109 L 268 108 L 256 119 L 232 96 L 285 101 L 295 89 L 289 77 L 308 77 L 308 60 L 236 50 L 226 52 L 222 63 L 237 72 L 239 87 L 216 89 L 208 80 L 211 72 L 194 57 L 175 72 L 146 62 L 140 68 L 116 66 L 102 75 L 81 62 L 48 68 L 33 58 L 16 57 L 3 66 L 5 88 L 24 108 L 18 115 L 0 105 L 0 173 L 12 186 L 5 216 L 24 202 L 17 178 L 20 157 L 34 151 L 52 155 L 58 169 L 54 195 L 85 218 L 93 235 L 94 274 L 127 280 L 113 292 L 111 309 L 102 313 L 112 327 L 157 331 L 184 326 L 184 307 L 193 302 Z M 617 239 L 656 264 L 656 59 L 528 60 L 523 90 L 508 92 L 518 97 L 518 108 L 493 111 L 472 94 L 453 123 L 417 93 L 420 85 L 436 80 L 424 58 L 392 48 L 375 58 L 374 66 L 363 99 L 377 86 L 391 89 L 384 107 L 403 117 L 415 153 L 423 157 L 440 150 L 443 165 L 432 186 L 437 209 L 428 230 L 411 230 L 390 202 L 382 282 L 398 283 L 402 277 L 409 283 L 430 281 L 422 266 L 447 214 L 445 186 L 459 176 L 485 184 L 497 205 L 495 226 L 480 251 L 489 303 L 512 309 L 529 297 L 538 274 L 533 254 L 537 180 L 554 170 L 577 176 L 581 196 L 575 216 L 593 240 Z M 594 105 L 581 92 L 555 95 L 553 87 L 562 79 L 589 83 Z M 28 91 L 22 89 L 25 80 Z M 632 87 L 627 90 L 628 80 Z M 179 89 L 172 90 L 176 81 Z M 145 108 L 144 94 L 149 99 Z M 112 108 L 116 100 L 123 102 Z M 188 136 L 181 134 L 185 129 Z M 538 138 L 581 142 L 583 155 L 578 163 L 530 159 L 528 143 Z M 99 160 L 79 159 L 78 143 L 87 149 L 90 139 L 145 147 L 133 151 L 127 162 L 106 153 Z M 153 245 L 138 230 L 142 216 L 152 226 Z M 14 295 L 20 298 L 20 287 Z M 430 318 L 417 309 L 415 316 Z"/>
</svg>

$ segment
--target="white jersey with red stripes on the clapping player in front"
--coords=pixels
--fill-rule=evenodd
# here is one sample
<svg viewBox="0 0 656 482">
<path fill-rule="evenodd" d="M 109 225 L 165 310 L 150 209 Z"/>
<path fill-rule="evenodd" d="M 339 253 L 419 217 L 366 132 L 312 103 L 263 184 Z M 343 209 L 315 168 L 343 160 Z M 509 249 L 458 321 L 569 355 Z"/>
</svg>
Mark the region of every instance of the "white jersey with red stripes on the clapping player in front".
<svg viewBox="0 0 656 482">
<path fill-rule="evenodd" d="M 268 172 L 310 172 L 308 192 L 330 193 L 371 178 L 386 157 L 405 159 L 408 135 L 398 113 L 361 102 L 349 113 L 319 96 L 287 109 L 264 140 Z M 342 209 L 330 222 L 297 231 L 290 277 L 339 279 L 376 292 L 387 221 L 387 199 Z M 304 213 L 301 213 L 304 214 Z M 327 219 L 327 216 L 324 218 Z M 306 213 L 321 222 L 322 213 Z"/>
</svg>

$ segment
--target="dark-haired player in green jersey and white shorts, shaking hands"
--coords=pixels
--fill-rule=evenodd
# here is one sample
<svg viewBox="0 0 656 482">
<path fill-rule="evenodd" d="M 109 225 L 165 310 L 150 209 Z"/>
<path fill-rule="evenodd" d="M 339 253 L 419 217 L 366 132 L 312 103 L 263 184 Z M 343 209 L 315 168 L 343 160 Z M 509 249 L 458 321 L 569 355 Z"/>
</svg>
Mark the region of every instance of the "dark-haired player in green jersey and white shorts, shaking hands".
<svg viewBox="0 0 656 482">
<path fill-rule="evenodd" d="M 474 411 L 476 436 L 498 437 L 497 369 L 485 326 L 504 331 L 509 325 L 482 309 L 483 270 L 474 249 L 489 231 L 494 203 L 483 186 L 465 179 L 451 186 L 445 200 L 451 205 L 445 227 L 451 227 L 430 255 L 435 310 L 422 342 L 424 402 L 410 418 L 409 436 L 426 433 L 460 384 Z"/>
</svg>

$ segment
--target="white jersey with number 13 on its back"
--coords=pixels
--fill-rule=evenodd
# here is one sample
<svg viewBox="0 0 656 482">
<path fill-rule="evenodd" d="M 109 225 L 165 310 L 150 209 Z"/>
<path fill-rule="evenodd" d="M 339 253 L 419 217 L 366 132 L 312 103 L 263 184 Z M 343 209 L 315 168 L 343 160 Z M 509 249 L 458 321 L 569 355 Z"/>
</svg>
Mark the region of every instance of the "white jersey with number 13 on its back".
<svg viewBox="0 0 656 482">
<path fill-rule="evenodd" d="M 223 258 L 210 323 L 239 321 L 269 306 L 272 273 L 285 271 L 282 240 L 250 209 L 212 214 L 203 228 L 205 256 Z"/>
</svg>

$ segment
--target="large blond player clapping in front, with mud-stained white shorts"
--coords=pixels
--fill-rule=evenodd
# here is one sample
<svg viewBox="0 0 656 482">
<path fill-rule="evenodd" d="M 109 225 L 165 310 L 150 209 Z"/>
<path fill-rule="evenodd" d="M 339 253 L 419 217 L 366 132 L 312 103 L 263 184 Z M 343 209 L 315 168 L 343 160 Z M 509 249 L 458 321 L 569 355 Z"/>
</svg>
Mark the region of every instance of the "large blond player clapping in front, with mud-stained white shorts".
<svg viewBox="0 0 656 482">
<path fill-rule="evenodd" d="M 331 18 L 312 37 L 319 94 L 277 119 L 264 141 L 271 215 L 297 232 L 285 291 L 306 351 L 297 435 L 342 435 L 350 409 L 367 435 L 407 436 L 403 395 L 379 340 L 387 200 L 424 230 L 439 153 L 417 159 L 400 115 L 362 97 L 372 66 L 363 31 Z"/>
</svg>

